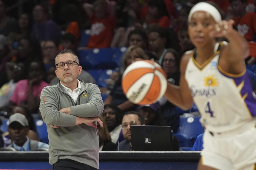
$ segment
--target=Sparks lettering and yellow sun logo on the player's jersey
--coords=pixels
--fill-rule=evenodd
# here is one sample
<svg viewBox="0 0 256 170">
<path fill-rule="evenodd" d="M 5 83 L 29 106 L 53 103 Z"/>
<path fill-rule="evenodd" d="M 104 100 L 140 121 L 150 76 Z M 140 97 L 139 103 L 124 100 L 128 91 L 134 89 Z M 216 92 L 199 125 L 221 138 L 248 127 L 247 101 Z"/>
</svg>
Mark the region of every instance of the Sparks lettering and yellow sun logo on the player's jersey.
<svg viewBox="0 0 256 170">
<path fill-rule="evenodd" d="M 218 79 L 214 78 L 214 75 L 205 76 L 203 79 L 204 88 L 196 88 L 191 85 L 190 90 L 193 97 L 206 96 L 211 97 L 216 95 L 216 87 L 219 85 Z"/>
</svg>

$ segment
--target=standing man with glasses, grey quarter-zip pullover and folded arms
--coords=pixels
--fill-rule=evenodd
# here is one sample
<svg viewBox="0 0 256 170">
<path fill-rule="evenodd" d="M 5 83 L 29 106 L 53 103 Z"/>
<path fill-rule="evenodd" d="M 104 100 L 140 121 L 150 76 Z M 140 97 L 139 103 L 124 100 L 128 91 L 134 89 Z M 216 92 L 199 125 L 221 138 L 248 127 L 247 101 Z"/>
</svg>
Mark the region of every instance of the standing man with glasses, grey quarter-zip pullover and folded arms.
<svg viewBox="0 0 256 170">
<path fill-rule="evenodd" d="M 47 124 L 49 162 L 54 170 L 99 169 L 98 118 L 104 109 L 97 85 L 77 79 L 82 71 L 69 50 L 55 58 L 59 83 L 41 92 L 40 111 Z"/>
</svg>

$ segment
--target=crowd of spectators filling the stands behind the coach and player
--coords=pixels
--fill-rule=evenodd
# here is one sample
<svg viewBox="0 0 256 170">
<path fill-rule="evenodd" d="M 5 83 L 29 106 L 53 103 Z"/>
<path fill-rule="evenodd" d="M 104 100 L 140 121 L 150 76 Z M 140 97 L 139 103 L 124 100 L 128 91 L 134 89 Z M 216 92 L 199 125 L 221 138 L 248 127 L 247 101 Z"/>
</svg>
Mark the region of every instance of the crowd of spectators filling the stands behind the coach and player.
<svg viewBox="0 0 256 170">
<path fill-rule="evenodd" d="M 234 27 L 250 43 L 246 62 L 255 82 L 256 1 L 210 1 L 219 6 L 224 19 L 235 21 Z M 101 150 L 116 150 L 115 144 L 129 141 L 127 128 L 122 131 L 121 127 L 122 117 L 128 111 L 133 112 L 126 113 L 123 120 L 133 116 L 139 124 L 172 126 L 175 133 L 180 120 L 176 107 L 165 97 L 147 107 L 131 103 L 123 93 L 121 78 L 126 67 L 136 60 L 155 60 L 168 82 L 179 85 L 180 58 L 194 48 L 187 33 L 187 17 L 197 2 L 200 1 L 30 0 L 29 5 L 24 2 L 20 10 L 14 11 L 10 8 L 14 2 L 0 0 L 0 111 L 5 113 L 0 116 L 25 115 L 30 127 L 25 133 L 29 139 L 39 141 L 34 119 L 41 118 L 41 90 L 59 81 L 55 56 L 63 49 L 83 57 L 79 56 L 81 50 L 127 47 L 120 68 L 107 80 L 110 92 L 100 117 L 104 122 L 104 128 L 99 129 Z M 86 46 L 79 46 L 82 30 L 90 30 Z M 86 67 L 83 69 L 78 78 L 97 83 Z M 15 128 L 18 127 L 23 128 Z M 129 145 L 127 148 L 130 150 Z"/>
</svg>

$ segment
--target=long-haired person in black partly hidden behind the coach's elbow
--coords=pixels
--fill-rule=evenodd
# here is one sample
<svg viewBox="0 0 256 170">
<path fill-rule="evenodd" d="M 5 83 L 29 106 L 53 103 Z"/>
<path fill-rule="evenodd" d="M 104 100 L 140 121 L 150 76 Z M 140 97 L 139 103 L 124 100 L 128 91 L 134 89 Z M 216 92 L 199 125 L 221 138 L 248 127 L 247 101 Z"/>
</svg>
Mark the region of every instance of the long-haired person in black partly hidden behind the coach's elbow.
<svg viewBox="0 0 256 170">
<path fill-rule="evenodd" d="M 98 132 L 99 132 L 99 144 L 100 151 L 116 151 L 116 144 L 111 141 L 111 136 L 108 132 L 106 122 L 102 116 L 99 117 L 103 122 L 103 127 L 101 128 L 97 122 Z"/>
</svg>

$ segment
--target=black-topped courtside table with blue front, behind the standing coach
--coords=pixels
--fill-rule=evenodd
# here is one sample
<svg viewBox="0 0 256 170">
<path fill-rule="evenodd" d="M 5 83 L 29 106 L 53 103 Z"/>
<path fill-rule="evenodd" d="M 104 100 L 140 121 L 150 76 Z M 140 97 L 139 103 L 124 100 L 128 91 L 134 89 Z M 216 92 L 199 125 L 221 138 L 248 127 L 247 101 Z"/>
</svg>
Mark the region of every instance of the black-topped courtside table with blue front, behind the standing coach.
<svg viewBox="0 0 256 170">
<path fill-rule="evenodd" d="M 0 169 L 52 169 L 48 152 L 0 152 Z M 100 169 L 196 170 L 200 152 L 100 151 Z"/>
</svg>

